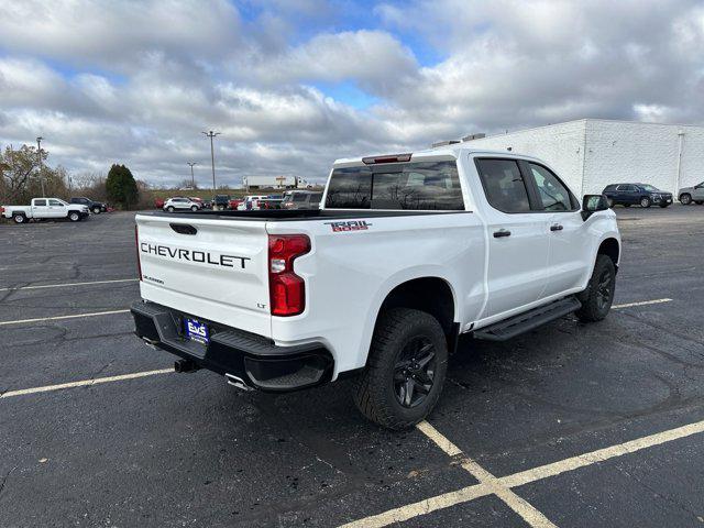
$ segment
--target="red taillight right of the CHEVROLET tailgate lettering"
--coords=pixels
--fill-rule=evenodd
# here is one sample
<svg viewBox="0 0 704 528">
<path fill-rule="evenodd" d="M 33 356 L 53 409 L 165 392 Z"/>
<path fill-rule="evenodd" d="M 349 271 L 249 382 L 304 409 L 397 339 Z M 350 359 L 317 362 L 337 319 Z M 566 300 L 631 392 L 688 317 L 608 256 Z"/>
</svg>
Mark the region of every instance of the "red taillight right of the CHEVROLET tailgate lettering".
<svg viewBox="0 0 704 528">
<path fill-rule="evenodd" d="M 306 308 L 306 283 L 294 273 L 294 261 L 310 251 L 305 234 L 268 235 L 268 294 L 272 316 L 297 316 Z"/>
</svg>

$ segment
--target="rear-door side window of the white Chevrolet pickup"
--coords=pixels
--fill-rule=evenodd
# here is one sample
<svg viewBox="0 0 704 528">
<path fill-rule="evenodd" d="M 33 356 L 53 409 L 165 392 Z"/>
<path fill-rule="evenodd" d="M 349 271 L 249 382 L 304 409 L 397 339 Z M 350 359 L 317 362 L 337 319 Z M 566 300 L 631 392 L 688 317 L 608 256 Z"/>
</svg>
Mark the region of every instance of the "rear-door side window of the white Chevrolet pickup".
<svg viewBox="0 0 704 528">
<path fill-rule="evenodd" d="M 476 160 L 486 199 L 503 212 L 530 212 L 526 183 L 514 160 Z"/>
</svg>

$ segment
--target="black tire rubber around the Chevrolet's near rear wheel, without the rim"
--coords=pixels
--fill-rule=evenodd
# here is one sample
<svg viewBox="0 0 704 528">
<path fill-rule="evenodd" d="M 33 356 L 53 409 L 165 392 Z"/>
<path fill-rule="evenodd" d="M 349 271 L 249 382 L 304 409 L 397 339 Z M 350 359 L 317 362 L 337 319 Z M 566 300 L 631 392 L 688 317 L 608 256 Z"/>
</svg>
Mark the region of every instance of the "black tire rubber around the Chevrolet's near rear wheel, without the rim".
<svg viewBox="0 0 704 528">
<path fill-rule="evenodd" d="M 416 407 L 404 407 L 394 392 L 394 372 L 406 344 L 422 337 L 435 345 L 432 387 Z M 436 406 L 448 370 L 448 343 L 442 327 L 429 314 L 394 308 L 380 316 L 364 371 L 354 387 L 354 403 L 370 420 L 400 430 L 422 421 Z"/>
</svg>

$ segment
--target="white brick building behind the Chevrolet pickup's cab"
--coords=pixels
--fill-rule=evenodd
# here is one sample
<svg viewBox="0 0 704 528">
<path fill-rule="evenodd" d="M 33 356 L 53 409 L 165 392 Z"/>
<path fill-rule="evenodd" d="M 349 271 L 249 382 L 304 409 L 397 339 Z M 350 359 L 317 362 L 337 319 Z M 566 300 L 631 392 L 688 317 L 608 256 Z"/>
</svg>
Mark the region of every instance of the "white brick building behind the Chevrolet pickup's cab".
<svg viewBox="0 0 704 528">
<path fill-rule="evenodd" d="M 581 195 L 618 183 L 650 184 L 675 194 L 704 182 L 704 127 L 582 119 L 471 143 L 539 157 Z"/>
</svg>

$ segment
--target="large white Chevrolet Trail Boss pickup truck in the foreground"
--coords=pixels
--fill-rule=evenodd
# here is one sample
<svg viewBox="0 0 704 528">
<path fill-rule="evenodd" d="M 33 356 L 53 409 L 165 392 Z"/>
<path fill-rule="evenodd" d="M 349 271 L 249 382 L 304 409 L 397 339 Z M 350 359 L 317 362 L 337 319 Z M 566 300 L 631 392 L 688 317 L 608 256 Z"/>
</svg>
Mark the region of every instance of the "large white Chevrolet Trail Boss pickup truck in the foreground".
<svg viewBox="0 0 704 528">
<path fill-rule="evenodd" d="M 465 144 L 340 160 L 319 210 L 136 216 L 136 334 L 243 389 L 354 375 L 370 419 L 438 400 L 460 334 L 606 317 L 620 256 L 602 195 Z"/>
</svg>

